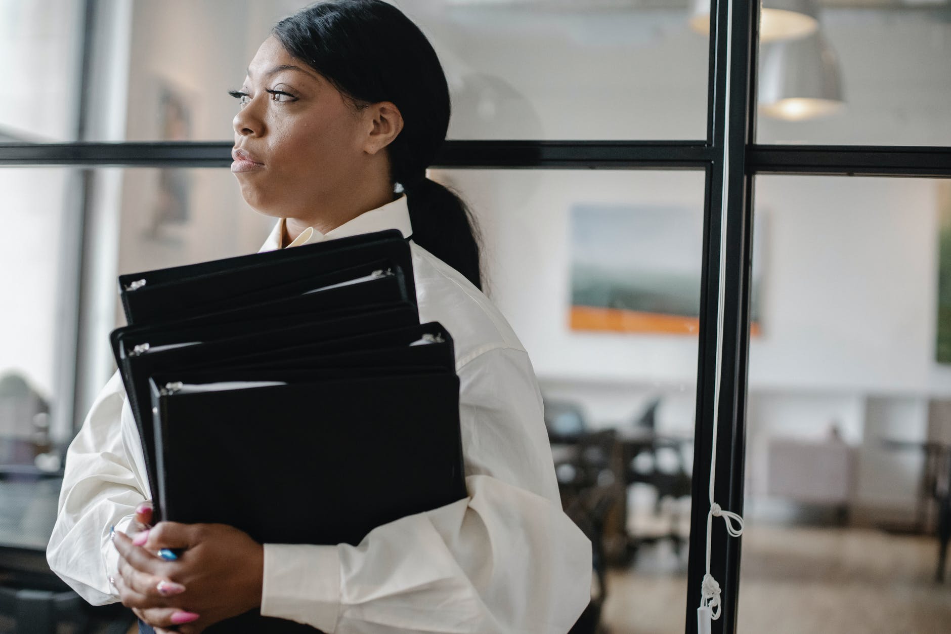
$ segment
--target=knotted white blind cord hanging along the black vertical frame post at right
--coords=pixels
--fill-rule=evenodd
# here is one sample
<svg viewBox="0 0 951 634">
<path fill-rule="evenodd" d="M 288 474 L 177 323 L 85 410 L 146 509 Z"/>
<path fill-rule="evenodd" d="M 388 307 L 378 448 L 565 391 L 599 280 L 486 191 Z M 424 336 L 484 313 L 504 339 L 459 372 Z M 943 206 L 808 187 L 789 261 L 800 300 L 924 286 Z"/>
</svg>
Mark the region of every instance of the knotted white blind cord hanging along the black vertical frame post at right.
<svg viewBox="0 0 951 634">
<path fill-rule="evenodd" d="M 710 19 L 716 19 L 711 15 Z M 732 48 L 733 36 L 733 3 L 727 2 L 727 92 L 726 103 L 729 106 L 730 93 L 730 52 Z M 729 108 L 727 108 L 729 109 Z M 720 383 L 723 366 L 723 309 L 726 303 L 726 280 L 724 274 L 727 269 L 727 199 L 728 199 L 728 178 L 729 178 L 729 117 L 724 119 L 724 152 L 723 152 L 723 199 L 721 200 L 720 210 L 720 285 L 717 292 L 717 341 L 716 341 L 716 373 L 714 377 L 713 390 L 713 439 L 710 443 L 710 478 L 709 478 L 709 504 L 710 509 L 707 514 L 707 568 L 704 574 L 703 583 L 700 586 L 700 607 L 697 608 L 697 632 L 698 634 L 710 634 L 712 629 L 711 622 L 720 618 L 720 584 L 713 575 L 710 574 L 710 536 L 712 533 L 713 518 L 722 517 L 727 524 L 727 532 L 730 537 L 739 537 L 743 534 L 743 518 L 738 514 L 728 510 L 723 510 L 713 501 L 713 487 L 716 483 L 716 442 L 717 426 L 719 424 L 720 413 Z"/>
</svg>

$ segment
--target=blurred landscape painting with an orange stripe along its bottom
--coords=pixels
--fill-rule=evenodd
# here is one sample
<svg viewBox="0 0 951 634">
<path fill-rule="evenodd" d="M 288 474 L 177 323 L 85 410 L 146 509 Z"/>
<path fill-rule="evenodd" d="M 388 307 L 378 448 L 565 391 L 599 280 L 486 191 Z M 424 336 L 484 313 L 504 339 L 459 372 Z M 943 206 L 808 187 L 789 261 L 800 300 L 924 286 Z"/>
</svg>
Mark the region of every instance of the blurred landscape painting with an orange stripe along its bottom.
<svg viewBox="0 0 951 634">
<path fill-rule="evenodd" d="M 703 209 L 576 204 L 571 209 L 573 330 L 696 336 Z M 761 334 L 764 216 L 754 225 L 750 334 Z"/>
</svg>

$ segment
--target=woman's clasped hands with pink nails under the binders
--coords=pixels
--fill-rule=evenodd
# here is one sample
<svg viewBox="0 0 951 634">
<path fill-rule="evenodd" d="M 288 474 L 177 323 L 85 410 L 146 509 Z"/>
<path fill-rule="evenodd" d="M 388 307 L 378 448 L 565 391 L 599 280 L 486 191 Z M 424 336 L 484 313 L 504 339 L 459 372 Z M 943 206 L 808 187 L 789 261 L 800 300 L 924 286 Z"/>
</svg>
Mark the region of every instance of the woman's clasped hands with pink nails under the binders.
<svg viewBox="0 0 951 634">
<path fill-rule="evenodd" d="M 123 604 L 154 627 L 197 634 L 261 604 L 263 546 L 237 528 L 160 522 L 134 543 L 116 533 L 115 544 Z M 182 552 L 165 561 L 156 554 L 162 548 Z"/>
</svg>

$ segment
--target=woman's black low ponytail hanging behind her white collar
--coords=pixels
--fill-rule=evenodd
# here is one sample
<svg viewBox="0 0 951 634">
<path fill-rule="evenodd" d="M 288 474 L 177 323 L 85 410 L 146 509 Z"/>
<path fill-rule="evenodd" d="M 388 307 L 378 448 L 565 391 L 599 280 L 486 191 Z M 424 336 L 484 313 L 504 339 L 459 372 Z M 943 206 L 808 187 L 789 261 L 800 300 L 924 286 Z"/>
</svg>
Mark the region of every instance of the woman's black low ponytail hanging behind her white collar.
<svg viewBox="0 0 951 634">
<path fill-rule="evenodd" d="M 482 290 L 478 229 L 472 211 L 456 193 L 423 178 L 406 189 L 413 242 L 462 273 Z"/>
</svg>

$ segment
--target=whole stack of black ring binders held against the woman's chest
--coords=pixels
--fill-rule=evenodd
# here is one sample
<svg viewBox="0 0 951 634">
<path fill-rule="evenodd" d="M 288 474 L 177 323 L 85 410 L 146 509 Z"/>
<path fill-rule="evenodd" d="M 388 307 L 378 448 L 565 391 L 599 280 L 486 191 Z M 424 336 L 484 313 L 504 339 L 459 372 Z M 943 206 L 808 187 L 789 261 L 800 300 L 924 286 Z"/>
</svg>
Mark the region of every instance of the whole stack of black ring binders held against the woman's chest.
<svg viewBox="0 0 951 634">
<path fill-rule="evenodd" d="M 398 230 L 119 278 L 112 348 L 156 521 L 359 544 L 466 496 L 449 333 Z M 248 613 L 208 632 L 313 628 Z"/>
</svg>

